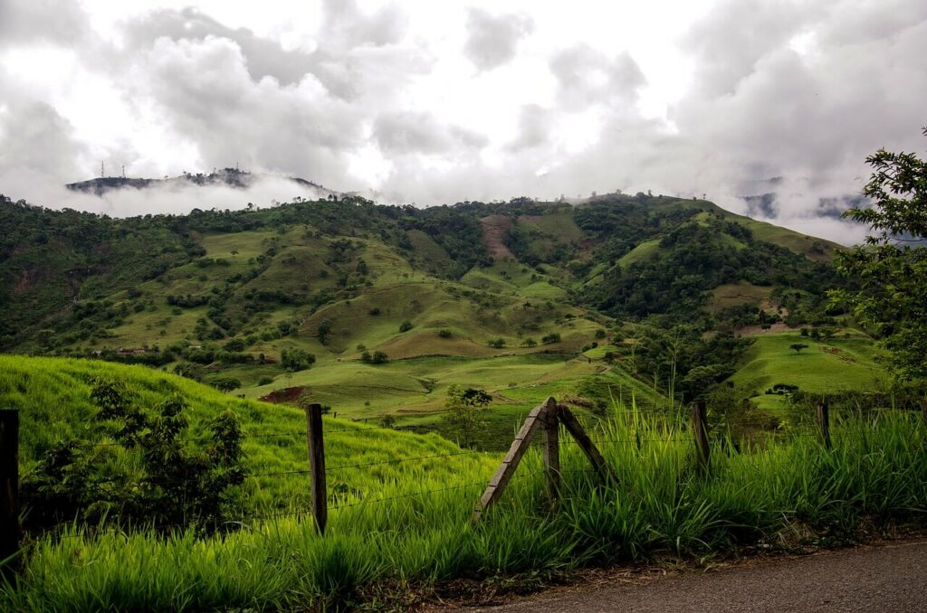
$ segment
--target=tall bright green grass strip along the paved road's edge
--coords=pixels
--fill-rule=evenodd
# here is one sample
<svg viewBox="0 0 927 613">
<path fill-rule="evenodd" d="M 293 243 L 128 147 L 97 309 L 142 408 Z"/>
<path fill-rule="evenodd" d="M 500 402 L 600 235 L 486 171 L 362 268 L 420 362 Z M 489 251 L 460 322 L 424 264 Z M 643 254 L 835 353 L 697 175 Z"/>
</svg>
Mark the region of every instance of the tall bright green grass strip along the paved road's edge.
<svg viewBox="0 0 927 613">
<path fill-rule="evenodd" d="M 702 556 L 795 534 L 851 539 L 927 512 L 927 432 L 907 415 L 838 421 L 832 451 L 804 435 L 739 454 L 716 445 L 701 472 L 684 426 L 615 408 L 594 438 L 616 482 L 598 483 L 577 445 L 565 443 L 562 499 L 552 510 L 541 459 L 530 452 L 476 525 L 485 465 L 456 479 L 419 473 L 384 482 L 366 502 L 333 509 L 324 537 L 298 518 L 206 540 L 73 528 L 29 547 L 21 581 L 0 607 L 344 607 L 384 586 Z M 439 491 L 416 495 L 429 489 Z"/>
</svg>

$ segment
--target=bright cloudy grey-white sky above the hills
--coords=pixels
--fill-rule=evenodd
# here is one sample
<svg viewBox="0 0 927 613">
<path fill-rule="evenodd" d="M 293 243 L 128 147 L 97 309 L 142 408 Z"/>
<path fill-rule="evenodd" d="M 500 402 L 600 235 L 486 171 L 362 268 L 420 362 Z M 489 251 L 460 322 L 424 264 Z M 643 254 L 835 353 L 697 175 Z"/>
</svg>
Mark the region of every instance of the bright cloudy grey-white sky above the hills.
<svg viewBox="0 0 927 613">
<path fill-rule="evenodd" d="M 302 195 L 286 176 L 416 206 L 651 191 L 852 244 L 866 156 L 927 149 L 924 57 L 923 0 L 0 0 L 0 193 L 124 216 Z M 269 178 L 63 189 L 101 163 Z"/>
</svg>

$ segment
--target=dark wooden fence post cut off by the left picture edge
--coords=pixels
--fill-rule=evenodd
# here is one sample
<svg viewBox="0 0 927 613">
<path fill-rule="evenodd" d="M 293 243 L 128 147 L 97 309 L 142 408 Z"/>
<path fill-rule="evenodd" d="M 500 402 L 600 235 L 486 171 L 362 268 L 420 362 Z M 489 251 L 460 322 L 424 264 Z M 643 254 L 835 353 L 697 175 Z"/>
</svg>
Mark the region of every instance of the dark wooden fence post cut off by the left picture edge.
<svg viewBox="0 0 927 613">
<path fill-rule="evenodd" d="M 19 411 L 0 410 L 0 562 L 19 551 Z M 12 560 L 2 565 L 9 577 Z"/>
</svg>

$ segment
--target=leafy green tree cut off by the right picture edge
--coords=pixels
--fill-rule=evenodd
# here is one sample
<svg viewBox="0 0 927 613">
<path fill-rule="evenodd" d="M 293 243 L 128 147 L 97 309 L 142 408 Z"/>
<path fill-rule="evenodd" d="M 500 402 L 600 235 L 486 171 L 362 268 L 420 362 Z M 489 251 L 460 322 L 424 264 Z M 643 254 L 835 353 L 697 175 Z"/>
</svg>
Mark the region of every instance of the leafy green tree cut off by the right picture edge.
<svg viewBox="0 0 927 613">
<path fill-rule="evenodd" d="M 927 128 L 923 129 L 927 136 Z M 927 384 L 927 162 L 914 154 L 880 149 L 866 158 L 872 167 L 863 194 L 868 208 L 844 217 L 868 224 L 866 243 L 840 254 L 838 267 L 854 275 L 857 294 L 833 292 L 849 304 L 889 350 L 895 381 Z"/>
</svg>

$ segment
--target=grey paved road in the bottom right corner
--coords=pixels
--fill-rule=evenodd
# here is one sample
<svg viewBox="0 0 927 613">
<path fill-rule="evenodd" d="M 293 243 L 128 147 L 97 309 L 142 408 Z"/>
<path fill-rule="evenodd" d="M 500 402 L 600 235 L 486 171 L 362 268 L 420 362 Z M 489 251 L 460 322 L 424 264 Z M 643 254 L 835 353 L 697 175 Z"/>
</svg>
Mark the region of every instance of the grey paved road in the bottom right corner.
<svg viewBox="0 0 927 613">
<path fill-rule="evenodd" d="M 641 582 L 557 588 L 469 611 L 927 611 L 927 541 L 880 544 L 807 557 L 683 572 Z"/>
</svg>

